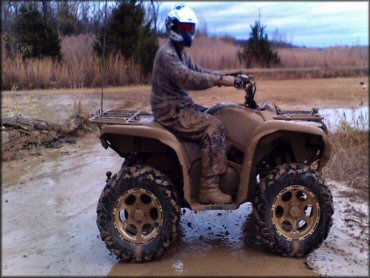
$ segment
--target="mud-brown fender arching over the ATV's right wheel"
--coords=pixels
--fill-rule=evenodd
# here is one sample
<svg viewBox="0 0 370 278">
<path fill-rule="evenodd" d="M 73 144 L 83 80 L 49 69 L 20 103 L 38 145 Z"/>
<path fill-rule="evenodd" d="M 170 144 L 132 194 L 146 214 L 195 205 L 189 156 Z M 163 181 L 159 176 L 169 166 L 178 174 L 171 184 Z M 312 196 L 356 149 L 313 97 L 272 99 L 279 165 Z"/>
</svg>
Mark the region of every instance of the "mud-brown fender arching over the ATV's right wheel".
<svg viewBox="0 0 370 278">
<path fill-rule="evenodd" d="M 259 126 L 250 137 L 249 142 L 246 144 L 245 160 L 243 163 L 241 175 L 240 175 L 240 191 L 238 195 L 238 203 L 243 203 L 248 199 L 251 199 L 254 193 L 254 187 L 256 182 L 255 168 L 258 154 L 256 150 L 262 143 L 273 142 L 278 139 L 282 134 L 290 133 L 299 136 L 314 136 L 320 138 L 324 145 L 324 150 L 321 153 L 319 170 L 327 163 L 330 157 L 331 145 L 328 141 L 327 135 L 324 130 L 319 128 L 319 124 L 312 122 L 292 122 L 292 121 L 279 121 L 271 120 L 265 122 Z M 293 140 L 294 141 L 294 140 Z M 301 153 L 302 142 L 292 142 L 291 148 L 294 157 L 297 161 L 305 159 L 305 154 Z M 301 161 L 303 162 L 303 161 Z M 252 189 L 253 190 L 250 190 Z M 248 194 L 249 191 L 252 194 Z"/>
</svg>

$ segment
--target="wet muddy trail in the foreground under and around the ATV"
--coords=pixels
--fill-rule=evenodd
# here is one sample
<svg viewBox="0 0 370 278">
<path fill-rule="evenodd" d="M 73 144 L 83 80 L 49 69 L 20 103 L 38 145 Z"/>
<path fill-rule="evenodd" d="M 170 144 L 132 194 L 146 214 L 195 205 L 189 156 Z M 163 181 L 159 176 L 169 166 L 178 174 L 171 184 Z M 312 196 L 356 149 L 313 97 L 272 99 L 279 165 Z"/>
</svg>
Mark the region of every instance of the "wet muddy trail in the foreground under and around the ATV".
<svg viewBox="0 0 370 278">
<path fill-rule="evenodd" d="M 367 209 L 335 193 L 338 186 L 332 187 L 337 196 L 334 226 L 327 241 L 307 261 L 276 256 L 261 247 L 251 221 L 252 207 L 247 203 L 235 211 L 183 210 L 181 236 L 160 260 L 141 265 L 118 263 L 98 236 L 95 210 L 105 172 L 117 171 L 121 163 L 118 155 L 101 147 L 95 133 L 80 137 L 74 145 L 36 149 L 22 159 L 4 162 L 2 273 L 119 276 L 368 273 Z M 344 192 L 343 188 L 340 192 Z"/>
</svg>

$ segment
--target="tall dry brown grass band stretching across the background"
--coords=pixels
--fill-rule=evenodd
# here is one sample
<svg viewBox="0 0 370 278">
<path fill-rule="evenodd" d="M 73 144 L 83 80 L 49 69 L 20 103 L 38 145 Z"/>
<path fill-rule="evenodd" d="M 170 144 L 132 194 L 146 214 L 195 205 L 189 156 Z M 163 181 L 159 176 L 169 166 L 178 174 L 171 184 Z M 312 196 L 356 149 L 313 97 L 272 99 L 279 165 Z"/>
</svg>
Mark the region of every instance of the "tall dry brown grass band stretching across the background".
<svg viewBox="0 0 370 278">
<path fill-rule="evenodd" d="M 93 35 L 65 37 L 61 44 L 61 63 L 53 63 L 48 58 L 23 61 L 20 56 L 10 58 L 3 51 L 2 90 L 99 87 L 103 85 L 103 73 L 107 86 L 150 82 L 150 76 L 143 76 L 138 65 L 126 61 L 120 55 L 111 57 L 102 73 L 101 60 L 93 52 L 93 41 Z M 160 45 L 166 41 L 167 39 L 160 39 Z M 198 36 L 194 45 L 188 49 L 194 61 L 205 68 L 247 70 L 254 72 L 259 79 L 368 75 L 368 48 L 278 49 L 281 56 L 279 69 L 267 70 L 244 69 L 237 56 L 239 50 L 240 47 L 230 39 L 205 36 Z M 337 67 L 355 68 L 336 69 Z"/>
</svg>

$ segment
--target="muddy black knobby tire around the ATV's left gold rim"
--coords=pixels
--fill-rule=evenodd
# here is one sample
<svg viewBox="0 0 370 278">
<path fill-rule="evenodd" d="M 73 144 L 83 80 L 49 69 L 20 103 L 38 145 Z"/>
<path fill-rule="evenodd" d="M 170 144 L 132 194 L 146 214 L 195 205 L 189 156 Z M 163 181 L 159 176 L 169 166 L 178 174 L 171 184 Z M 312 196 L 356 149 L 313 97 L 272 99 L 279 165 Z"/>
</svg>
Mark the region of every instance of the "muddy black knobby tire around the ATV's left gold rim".
<svg viewBox="0 0 370 278">
<path fill-rule="evenodd" d="M 127 240 L 116 228 L 115 211 L 120 198 L 122 200 L 127 192 L 146 192 L 160 207 L 163 221 L 148 242 Z M 97 206 L 96 223 L 100 237 L 122 262 L 147 262 L 159 258 L 176 239 L 179 220 L 180 207 L 174 186 L 164 174 L 147 165 L 123 165 L 119 173 L 108 179 Z"/>
</svg>

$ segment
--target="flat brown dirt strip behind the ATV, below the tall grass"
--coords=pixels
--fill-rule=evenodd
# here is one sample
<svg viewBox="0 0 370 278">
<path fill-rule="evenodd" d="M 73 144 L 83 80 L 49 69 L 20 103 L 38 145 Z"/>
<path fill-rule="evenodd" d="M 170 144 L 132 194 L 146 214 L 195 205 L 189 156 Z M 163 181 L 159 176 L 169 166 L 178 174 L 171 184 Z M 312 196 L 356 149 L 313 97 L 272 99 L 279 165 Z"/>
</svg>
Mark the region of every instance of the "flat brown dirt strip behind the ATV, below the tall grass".
<svg viewBox="0 0 370 278">
<path fill-rule="evenodd" d="M 364 81 L 366 90 L 361 89 Z M 310 80 L 260 81 L 257 102 L 265 100 L 281 108 L 311 109 L 313 106 L 356 107 L 368 103 L 367 78 L 331 78 Z M 23 115 L 53 123 L 63 123 L 79 107 L 88 113 L 100 109 L 101 88 L 2 92 L 2 116 Z M 47 98 L 46 98 L 47 96 Z M 219 102 L 244 102 L 244 91 L 233 87 L 194 91 L 192 97 L 202 105 Z M 104 109 L 128 108 L 150 111 L 150 86 L 104 89 Z"/>
</svg>

